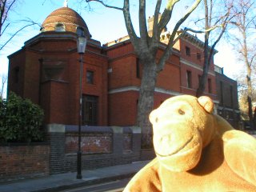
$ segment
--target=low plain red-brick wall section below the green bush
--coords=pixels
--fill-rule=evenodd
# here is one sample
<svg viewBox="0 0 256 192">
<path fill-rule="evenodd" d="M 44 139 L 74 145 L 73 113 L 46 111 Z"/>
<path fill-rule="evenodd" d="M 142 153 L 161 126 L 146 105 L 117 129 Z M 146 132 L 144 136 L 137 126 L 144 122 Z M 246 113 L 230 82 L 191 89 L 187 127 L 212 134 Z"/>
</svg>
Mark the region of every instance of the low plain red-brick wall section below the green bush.
<svg viewBox="0 0 256 192">
<path fill-rule="evenodd" d="M 49 175 L 48 143 L 7 143 L 0 146 L 0 182 Z"/>
</svg>

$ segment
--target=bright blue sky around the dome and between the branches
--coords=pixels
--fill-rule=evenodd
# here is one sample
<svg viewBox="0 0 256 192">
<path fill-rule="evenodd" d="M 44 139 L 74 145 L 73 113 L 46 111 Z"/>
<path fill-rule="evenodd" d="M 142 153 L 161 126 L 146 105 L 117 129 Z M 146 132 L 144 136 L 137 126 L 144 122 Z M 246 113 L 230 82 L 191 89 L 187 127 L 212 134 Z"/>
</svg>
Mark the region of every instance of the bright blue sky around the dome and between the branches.
<svg viewBox="0 0 256 192">
<path fill-rule="evenodd" d="M 10 25 L 10 30 L 12 32 L 18 30 L 22 26 L 22 22 L 18 20 L 31 18 L 34 22 L 41 23 L 46 19 L 46 17 L 54 10 L 60 8 L 64 4 L 64 0 L 19 0 L 18 4 L 14 6 L 14 11 L 10 13 L 10 21 L 14 24 Z M 134 0 L 136 1 L 136 0 Z M 121 38 L 127 34 L 126 26 L 122 17 L 122 12 L 120 10 L 106 9 L 103 6 L 98 4 L 92 4 L 92 11 L 88 11 L 83 6 L 77 6 L 75 3 L 77 0 L 69 0 L 68 6 L 76 10 L 78 14 L 82 15 L 84 18 L 92 38 L 102 42 L 110 42 L 114 39 Z M 114 2 L 121 3 L 120 0 L 114 0 Z M 131 1 L 132 2 L 132 1 Z M 193 0 L 182 1 L 178 6 L 179 9 L 175 10 L 174 15 L 184 14 L 186 9 L 186 4 L 183 2 L 189 3 Z M 114 4 L 117 6 L 117 4 Z M 152 6 L 151 6 L 152 5 Z M 149 11 L 148 15 L 152 16 L 154 14 L 154 1 L 149 1 Z M 121 5 L 122 6 L 122 5 Z M 134 9 L 137 13 L 135 6 L 132 6 L 131 9 Z M 176 18 L 176 20 L 178 17 Z M 174 17 L 175 20 L 175 17 Z M 136 17 L 134 17 L 134 25 L 136 26 Z M 24 24 L 23 24 L 24 25 Z M 190 26 L 189 20 L 186 22 L 186 26 Z M 20 32 L 13 40 L 7 44 L 7 46 L 0 51 L 0 75 L 7 74 L 8 72 L 8 58 L 7 56 L 14 53 L 17 50 L 20 50 L 24 45 L 24 42 L 34 37 L 39 33 L 39 26 L 32 26 L 26 28 Z M 169 29 L 170 30 L 170 29 Z M 2 36 L 0 43 L 2 44 L 8 37 Z M 215 55 L 214 61 L 218 66 L 224 66 L 224 72 L 227 76 L 234 78 L 235 74 L 238 73 L 239 66 L 234 67 L 235 57 L 232 51 L 232 48 L 226 42 L 221 42 L 218 44 L 217 48 L 218 54 Z M 0 80 L 1 81 L 1 80 Z M 0 84 L 1 85 L 1 84 Z"/>
</svg>

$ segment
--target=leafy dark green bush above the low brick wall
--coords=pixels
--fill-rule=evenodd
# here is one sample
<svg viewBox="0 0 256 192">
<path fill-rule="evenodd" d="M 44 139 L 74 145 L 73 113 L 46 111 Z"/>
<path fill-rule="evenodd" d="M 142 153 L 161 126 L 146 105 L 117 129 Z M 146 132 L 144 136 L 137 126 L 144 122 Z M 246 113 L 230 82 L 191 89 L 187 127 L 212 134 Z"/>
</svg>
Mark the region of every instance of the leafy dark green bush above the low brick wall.
<svg viewBox="0 0 256 192">
<path fill-rule="evenodd" d="M 8 100 L 0 100 L 0 142 L 42 141 L 42 119 L 38 105 L 10 93 Z"/>
</svg>

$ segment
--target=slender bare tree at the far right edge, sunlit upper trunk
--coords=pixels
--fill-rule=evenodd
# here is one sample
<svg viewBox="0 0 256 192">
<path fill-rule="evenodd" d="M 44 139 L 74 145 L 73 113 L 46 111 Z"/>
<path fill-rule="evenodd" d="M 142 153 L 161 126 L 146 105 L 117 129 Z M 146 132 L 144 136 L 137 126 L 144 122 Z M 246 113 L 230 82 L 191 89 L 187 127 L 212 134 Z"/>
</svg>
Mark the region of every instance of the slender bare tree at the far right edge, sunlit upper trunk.
<svg viewBox="0 0 256 192">
<path fill-rule="evenodd" d="M 255 22 L 256 15 L 254 14 L 254 1 L 239 0 L 234 6 L 234 13 L 236 14 L 232 24 L 237 29 L 234 32 L 234 49 L 237 50 L 242 62 L 246 68 L 246 86 L 247 86 L 247 102 L 248 102 L 248 116 L 250 119 L 250 127 L 255 128 L 255 121 L 253 118 L 252 99 L 252 69 L 255 64 L 256 50 L 254 45 L 255 37 Z"/>
</svg>

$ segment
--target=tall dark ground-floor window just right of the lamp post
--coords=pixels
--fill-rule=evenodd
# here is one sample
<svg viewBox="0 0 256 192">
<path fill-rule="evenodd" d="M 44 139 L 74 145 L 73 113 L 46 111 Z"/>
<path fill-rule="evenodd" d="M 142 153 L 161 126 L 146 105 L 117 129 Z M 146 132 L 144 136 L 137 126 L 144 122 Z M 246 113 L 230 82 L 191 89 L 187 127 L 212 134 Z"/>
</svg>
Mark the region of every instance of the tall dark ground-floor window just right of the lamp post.
<svg viewBox="0 0 256 192">
<path fill-rule="evenodd" d="M 97 126 L 98 97 L 82 95 L 82 125 Z"/>
</svg>

